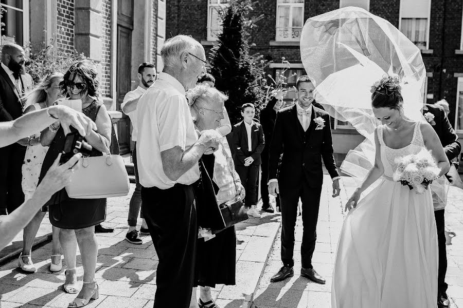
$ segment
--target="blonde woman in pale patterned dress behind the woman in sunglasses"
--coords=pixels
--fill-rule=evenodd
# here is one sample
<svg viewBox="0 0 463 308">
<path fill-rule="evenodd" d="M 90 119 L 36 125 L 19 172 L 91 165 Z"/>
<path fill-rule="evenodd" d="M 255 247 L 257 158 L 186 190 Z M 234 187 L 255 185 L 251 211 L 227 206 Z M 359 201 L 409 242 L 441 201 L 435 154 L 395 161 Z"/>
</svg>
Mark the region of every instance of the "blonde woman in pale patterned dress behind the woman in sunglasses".
<svg viewBox="0 0 463 308">
<path fill-rule="evenodd" d="M 26 109 L 24 113 L 34 110 L 47 108 L 59 98 L 62 97 L 60 91 L 60 82 L 63 79 L 63 74 L 58 72 L 50 72 L 45 78 L 30 92 L 28 92 L 23 101 L 25 101 Z M 32 197 L 32 194 L 37 188 L 39 182 L 40 169 L 48 147 L 40 144 L 40 132 L 22 139 L 20 144 L 27 146 L 26 156 L 22 167 L 23 179 L 22 188 L 25 201 Z M 34 273 L 37 271 L 31 258 L 31 249 L 35 236 L 39 231 L 40 224 L 45 216 L 45 212 L 38 211 L 30 223 L 24 228 L 23 233 L 23 251 L 18 259 L 18 266 L 25 272 Z M 51 255 L 51 272 L 59 272 L 62 268 L 60 254 L 60 229 L 52 226 L 52 255 Z"/>
</svg>

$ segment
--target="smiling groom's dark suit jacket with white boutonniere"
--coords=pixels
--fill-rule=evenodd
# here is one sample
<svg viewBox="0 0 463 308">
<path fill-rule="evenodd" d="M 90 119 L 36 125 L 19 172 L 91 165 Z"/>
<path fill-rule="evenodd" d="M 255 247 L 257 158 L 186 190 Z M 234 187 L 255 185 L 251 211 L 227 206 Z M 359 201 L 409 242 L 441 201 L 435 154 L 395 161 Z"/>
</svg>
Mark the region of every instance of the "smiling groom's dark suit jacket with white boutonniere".
<svg viewBox="0 0 463 308">
<path fill-rule="evenodd" d="M 314 119 L 317 117 L 325 120 L 322 129 L 316 129 Z M 315 106 L 312 106 L 307 131 L 297 118 L 296 105 L 278 111 L 269 151 L 269 180 L 278 179 L 280 189 L 296 187 L 304 177 L 308 185 L 322 186 L 322 159 L 331 178 L 339 176 L 334 162 L 330 116 Z M 281 153 L 283 157 L 278 168 Z"/>
</svg>

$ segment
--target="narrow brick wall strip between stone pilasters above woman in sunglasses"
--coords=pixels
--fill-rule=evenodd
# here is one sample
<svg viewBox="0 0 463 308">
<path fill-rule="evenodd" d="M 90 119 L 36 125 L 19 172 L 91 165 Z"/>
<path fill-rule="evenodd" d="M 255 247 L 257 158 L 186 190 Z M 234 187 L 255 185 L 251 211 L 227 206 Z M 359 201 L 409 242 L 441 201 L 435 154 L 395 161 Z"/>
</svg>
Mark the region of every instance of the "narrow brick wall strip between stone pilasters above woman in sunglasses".
<svg viewBox="0 0 463 308">
<path fill-rule="evenodd" d="M 74 1 L 57 0 L 56 48 L 74 51 Z"/>
</svg>

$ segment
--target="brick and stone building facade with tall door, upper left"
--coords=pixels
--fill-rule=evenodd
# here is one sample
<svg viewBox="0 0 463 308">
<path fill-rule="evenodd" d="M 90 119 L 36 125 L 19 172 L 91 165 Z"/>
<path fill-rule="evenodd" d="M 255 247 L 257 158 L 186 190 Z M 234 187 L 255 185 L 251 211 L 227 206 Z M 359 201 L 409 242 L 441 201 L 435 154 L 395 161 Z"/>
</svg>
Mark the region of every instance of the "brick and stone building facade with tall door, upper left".
<svg viewBox="0 0 463 308">
<path fill-rule="evenodd" d="M 121 153 L 133 148 L 131 123 L 120 111 L 138 86 L 137 69 L 162 69 L 166 0 L 2 0 L 0 44 L 43 46 L 84 53 L 97 63 L 103 102 L 117 126 Z"/>
</svg>

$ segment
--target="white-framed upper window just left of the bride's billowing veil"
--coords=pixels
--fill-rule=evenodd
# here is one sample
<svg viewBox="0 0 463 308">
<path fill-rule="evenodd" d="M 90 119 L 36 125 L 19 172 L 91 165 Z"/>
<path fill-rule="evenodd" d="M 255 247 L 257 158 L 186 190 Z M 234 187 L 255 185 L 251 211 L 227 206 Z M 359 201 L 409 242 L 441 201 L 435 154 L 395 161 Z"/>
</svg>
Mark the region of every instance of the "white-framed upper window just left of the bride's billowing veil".
<svg viewBox="0 0 463 308">
<path fill-rule="evenodd" d="M 299 42 L 304 26 L 304 0 L 277 0 L 276 41 Z"/>
</svg>

